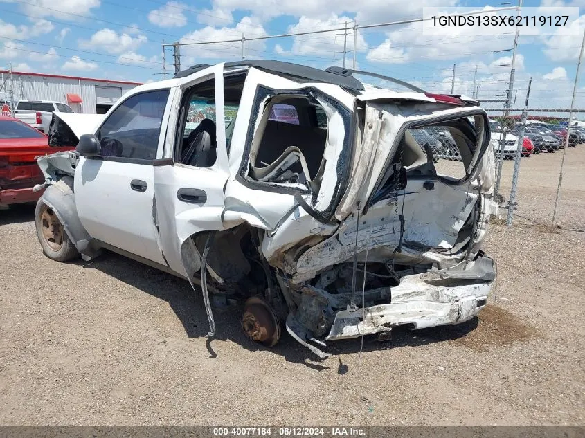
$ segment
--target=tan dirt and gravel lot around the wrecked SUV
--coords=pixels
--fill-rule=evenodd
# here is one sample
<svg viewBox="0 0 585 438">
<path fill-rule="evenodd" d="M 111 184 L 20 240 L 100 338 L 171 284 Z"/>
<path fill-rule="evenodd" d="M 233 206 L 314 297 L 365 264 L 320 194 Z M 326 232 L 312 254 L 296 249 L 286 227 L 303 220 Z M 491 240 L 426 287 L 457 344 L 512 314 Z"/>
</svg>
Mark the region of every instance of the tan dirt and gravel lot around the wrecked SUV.
<svg viewBox="0 0 585 438">
<path fill-rule="evenodd" d="M 206 340 L 183 280 L 111 253 L 51 262 L 33 208 L 0 212 L 0 423 L 583 425 L 585 145 L 568 151 L 564 228 L 534 225 L 552 214 L 560 156 L 523 159 L 528 219 L 492 226 L 498 287 L 479 318 L 366 339 L 360 363 L 359 340 L 323 362 L 287 335 L 259 348 L 237 311 L 216 313 Z"/>
</svg>

